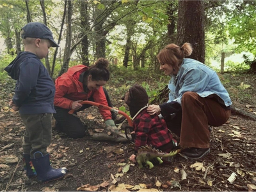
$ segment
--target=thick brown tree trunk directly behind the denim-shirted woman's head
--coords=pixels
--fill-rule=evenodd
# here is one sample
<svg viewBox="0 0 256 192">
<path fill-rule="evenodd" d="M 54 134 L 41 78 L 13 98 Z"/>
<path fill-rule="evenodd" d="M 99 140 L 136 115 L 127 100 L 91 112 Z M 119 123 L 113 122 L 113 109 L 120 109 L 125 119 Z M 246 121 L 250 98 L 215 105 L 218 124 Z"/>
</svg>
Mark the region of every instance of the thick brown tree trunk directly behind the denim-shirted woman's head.
<svg viewBox="0 0 256 192">
<path fill-rule="evenodd" d="M 190 58 L 204 63 L 205 59 L 205 30 L 204 30 L 204 1 L 179 0 L 177 24 L 177 45 L 188 42 L 193 46 Z"/>
</svg>

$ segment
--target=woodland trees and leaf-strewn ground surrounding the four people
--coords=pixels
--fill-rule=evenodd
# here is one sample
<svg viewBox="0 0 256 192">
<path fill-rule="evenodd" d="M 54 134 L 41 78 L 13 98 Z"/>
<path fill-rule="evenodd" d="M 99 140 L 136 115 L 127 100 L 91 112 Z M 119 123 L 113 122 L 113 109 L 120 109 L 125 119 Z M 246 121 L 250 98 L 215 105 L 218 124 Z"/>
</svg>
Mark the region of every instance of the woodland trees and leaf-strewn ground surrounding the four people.
<svg viewBox="0 0 256 192">
<path fill-rule="evenodd" d="M 0 0 L 0 191 L 255 190 L 255 6 L 255 0 Z M 44 22 L 60 44 L 42 60 L 53 80 L 70 66 L 109 59 L 105 87 L 113 106 L 127 114 L 120 98 L 133 84 L 147 90 L 150 103 L 166 100 L 170 77 L 160 73 L 156 55 L 168 43 L 191 43 L 191 57 L 218 72 L 233 102 L 228 122 L 212 128 L 211 153 L 198 161 L 176 156 L 171 165 L 139 169 L 128 161 L 133 151 L 126 139 L 74 140 L 54 130 L 48 148 L 52 166 L 66 166 L 68 174 L 48 184 L 28 180 L 22 165 L 25 127 L 19 112 L 8 106 L 15 81 L 3 70 L 24 50 L 19 33 L 28 22 Z M 230 59 L 238 54 L 243 59 Z M 97 108 L 79 117 L 94 135 L 105 131 Z M 181 170 L 188 174 L 186 181 Z M 237 179 L 231 184 L 232 172 Z"/>
</svg>

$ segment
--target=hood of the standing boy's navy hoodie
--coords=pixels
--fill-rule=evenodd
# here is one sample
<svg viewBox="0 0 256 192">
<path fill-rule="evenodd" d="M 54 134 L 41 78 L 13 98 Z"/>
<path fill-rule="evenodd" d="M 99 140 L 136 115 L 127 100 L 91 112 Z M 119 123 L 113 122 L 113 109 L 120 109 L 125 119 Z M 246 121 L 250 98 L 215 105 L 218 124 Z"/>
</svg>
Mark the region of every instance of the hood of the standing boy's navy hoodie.
<svg viewBox="0 0 256 192">
<path fill-rule="evenodd" d="M 34 58 L 38 59 L 38 57 L 31 52 L 19 52 L 17 57 L 8 66 L 6 66 L 6 68 L 4 68 L 4 70 L 14 80 L 18 80 L 19 73 L 20 73 L 20 64 L 30 57 L 34 57 Z"/>
</svg>

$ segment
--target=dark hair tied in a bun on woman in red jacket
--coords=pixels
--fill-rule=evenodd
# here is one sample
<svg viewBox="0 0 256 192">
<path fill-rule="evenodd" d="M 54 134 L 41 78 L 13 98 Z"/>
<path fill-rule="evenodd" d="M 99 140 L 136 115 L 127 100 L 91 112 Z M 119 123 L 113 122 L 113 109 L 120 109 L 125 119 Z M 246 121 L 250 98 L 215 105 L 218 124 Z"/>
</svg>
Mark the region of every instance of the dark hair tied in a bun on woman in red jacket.
<svg viewBox="0 0 256 192">
<path fill-rule="evenodd" d="M 109 65 L 108 59 L 99 58 L 95 61 L 95 64 L 89 67 L 88 75 L 92 75 L 93 81 L 109 80 L 109 70 L 107 69 Z"/>
</svg>

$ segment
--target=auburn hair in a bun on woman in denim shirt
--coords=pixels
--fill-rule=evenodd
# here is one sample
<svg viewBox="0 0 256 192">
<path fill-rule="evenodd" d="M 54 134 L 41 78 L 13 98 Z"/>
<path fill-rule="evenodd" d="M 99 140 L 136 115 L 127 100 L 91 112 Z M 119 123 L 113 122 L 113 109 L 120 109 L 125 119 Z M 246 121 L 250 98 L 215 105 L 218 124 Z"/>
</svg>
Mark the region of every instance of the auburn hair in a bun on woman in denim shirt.
<svg viewBox="0 0 256 192">
<path fill-rule="evenodd" d="M 191 55 L 192 51 L 193 49 L 190 43 L 184 43 L 182 47 L 172 43 L 166 45 L 166 47 L 157 54 L 157 59 L 159 63 L 166 63 L 177 69 L 182 63 L 182 59 L 184 59 L 185 56 Z"/>
</svg>

